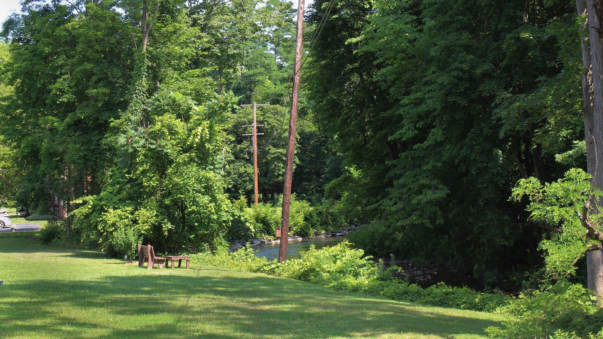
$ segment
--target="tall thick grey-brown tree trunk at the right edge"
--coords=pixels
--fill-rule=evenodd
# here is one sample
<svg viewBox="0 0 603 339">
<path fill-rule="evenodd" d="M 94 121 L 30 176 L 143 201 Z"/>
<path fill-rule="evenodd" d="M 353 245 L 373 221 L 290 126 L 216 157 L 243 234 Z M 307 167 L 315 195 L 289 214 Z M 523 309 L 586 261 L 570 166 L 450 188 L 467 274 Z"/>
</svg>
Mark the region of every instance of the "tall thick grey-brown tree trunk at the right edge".
<svg viewBox="0 0 603 339">
<path fill-rule="evenodd" d="M 596 2 L 596 3 L 595 3 Z M 584 92 L 584 134 L 586 136 L 587 171 L 593 176 L 592 185 L 603 188 L 603 166 L 597 159 L 603 159 L 603 42 L 597 28 L 601 21 L 595 6 L 601 0 L 576 0 L 578 14 L 590 13 L 588 19 L 590 39 L 581 34 L 582 42 L 582 90 Z M 586 23 L 582 26 L 586 33 Z M 592 209 L 596 213 L 597 209 Z M 603 259 L 602 252 L 586 253 L 587 285 L 589 290 L 603 296 Z"/>
</svg>

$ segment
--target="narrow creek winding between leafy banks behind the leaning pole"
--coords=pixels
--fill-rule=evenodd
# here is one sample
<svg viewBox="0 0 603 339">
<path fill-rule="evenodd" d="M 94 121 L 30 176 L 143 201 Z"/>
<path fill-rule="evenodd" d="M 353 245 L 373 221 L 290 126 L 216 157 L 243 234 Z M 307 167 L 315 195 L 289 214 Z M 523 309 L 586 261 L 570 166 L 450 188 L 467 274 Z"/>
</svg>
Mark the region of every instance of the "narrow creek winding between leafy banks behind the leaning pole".
<svg viewBox="0 0 603 339">
<path fill-rule="evenodd" d="M 301 252 L 306 252 L 310 246 L 314 245 L 316 249 L 325 246 L 333 246 L 345 239 L 345 236 L 326 236 L 324 238 L 303 239 L 301 241 L 289 241 L 287 244 L 287 259 L 299 259 Z M 254 247 L 259 257 L 265 256 L 272 261 L 279 258 L 279 244 L 267 244 Z M 384 259 L 389 262 L 389 259 Z M 402 268 L 402 274 L 396 276 L 408 279 L 412 284 L 426 288 L 431 285 L 444 282 L 453 287 L 467 286 L 481 290 L 482 285 L 478 280 L 473 279 L 473 274 L 456 270 L 452 267 L 436 264 L 425 264 L 423 262 L 411 260 L 396 260 L 396 265 Z"/>
</svg>

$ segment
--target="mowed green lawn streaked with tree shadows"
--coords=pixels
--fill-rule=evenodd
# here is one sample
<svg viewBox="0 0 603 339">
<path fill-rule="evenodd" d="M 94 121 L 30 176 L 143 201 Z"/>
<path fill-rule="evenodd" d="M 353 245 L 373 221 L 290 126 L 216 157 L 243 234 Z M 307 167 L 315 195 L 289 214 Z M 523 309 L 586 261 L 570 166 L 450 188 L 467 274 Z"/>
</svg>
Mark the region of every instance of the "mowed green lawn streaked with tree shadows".
<svg viewBox="0 0 603 339">
<path fill-rule="evenodd" d="M 0 338 L 482 338 L 500 315 L 192 264 L 147 270 L 0 235 Z"/>
</svg>

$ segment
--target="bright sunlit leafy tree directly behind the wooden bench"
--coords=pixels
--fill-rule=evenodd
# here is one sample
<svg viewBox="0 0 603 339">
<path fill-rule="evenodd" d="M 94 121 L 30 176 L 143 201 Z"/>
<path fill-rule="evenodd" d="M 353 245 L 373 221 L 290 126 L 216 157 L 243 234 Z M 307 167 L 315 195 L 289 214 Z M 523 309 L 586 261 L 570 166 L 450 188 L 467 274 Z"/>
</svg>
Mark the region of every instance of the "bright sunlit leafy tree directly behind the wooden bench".
<svg viewBox="0 0 603 339">
<path fill-rule="evenodd" d="M 150 98 L 150 127 L 125 141 L 111 180 L 75 210 L 74 230 L 123 255 L 143 239 L 175 252 L 215 249 L 232 218 L 219 180 L 227 135 L 216 122 L 218 103 L 203 109 L 179 93 Z"/>
</svg>

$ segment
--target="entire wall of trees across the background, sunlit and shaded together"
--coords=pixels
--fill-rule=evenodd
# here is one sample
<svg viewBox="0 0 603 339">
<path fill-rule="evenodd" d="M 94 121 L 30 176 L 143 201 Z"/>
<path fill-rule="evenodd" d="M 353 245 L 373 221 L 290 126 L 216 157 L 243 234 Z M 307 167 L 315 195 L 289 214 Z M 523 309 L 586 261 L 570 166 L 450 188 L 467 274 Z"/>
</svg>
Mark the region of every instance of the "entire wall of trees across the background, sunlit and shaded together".
<svg viewBox="0 0 603 339">
<path fill-rule="evenodd" d="M 25 1 L 1 32 L 0 205 L 65 201 L 75 243 L 126 255 L 270 232 L 294 19 L 285 0 Z M 559 228 L 513 190 L 586 170 L 579 19 L 566 0 L 315 1 L 300 232 L 361 223 L 352 242 L 368 253 L 494 285 L 543 267 Z M 264 207 L 248 212 L 264 226 L 244 215 L 253 102 L 270 104 L 257 110 Z"/>
</svg>

